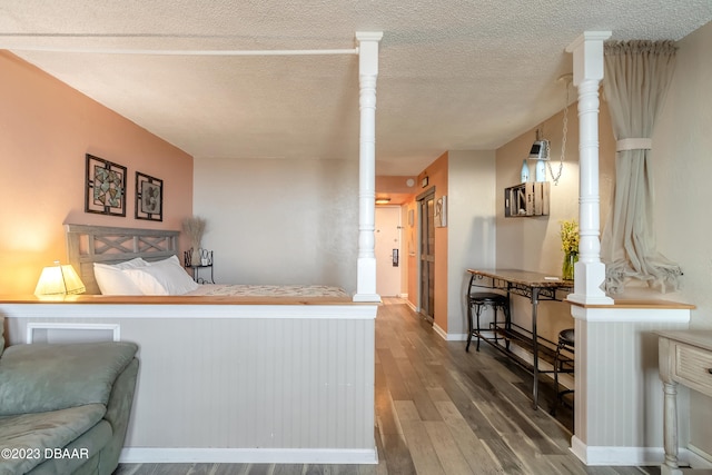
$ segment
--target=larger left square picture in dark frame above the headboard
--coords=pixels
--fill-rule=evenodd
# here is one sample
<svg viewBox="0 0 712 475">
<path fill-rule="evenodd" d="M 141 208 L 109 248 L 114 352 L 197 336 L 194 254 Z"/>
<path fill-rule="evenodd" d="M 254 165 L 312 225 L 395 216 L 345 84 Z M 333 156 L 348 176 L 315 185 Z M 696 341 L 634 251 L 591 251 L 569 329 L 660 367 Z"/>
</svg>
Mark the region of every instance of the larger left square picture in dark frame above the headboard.
<svg viewBox="0 0 712 475">
<path fill-rule="evenodd" d="M 85 212 L 126 217 L 126 167 L 86 155 Z"/>
</svg>

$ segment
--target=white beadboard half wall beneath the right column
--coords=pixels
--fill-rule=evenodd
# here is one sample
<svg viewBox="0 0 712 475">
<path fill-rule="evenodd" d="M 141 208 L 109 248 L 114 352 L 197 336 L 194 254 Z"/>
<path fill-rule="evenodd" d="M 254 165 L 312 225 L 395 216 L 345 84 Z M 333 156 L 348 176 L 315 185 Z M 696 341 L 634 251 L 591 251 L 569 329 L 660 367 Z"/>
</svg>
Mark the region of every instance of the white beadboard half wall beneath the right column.
<svg viewBox="0 0 712 475">
<path fill-rule="evenodd" d="M 686 328 L 689 308 L 572 306 L 576 328 L 573 452 L 587 465 L 663 459 L 656 330 Z M 686 406 L 682 397 L 681 407 Z M 681 423 L 681 434 L 688 433 Z"/>
</svg>

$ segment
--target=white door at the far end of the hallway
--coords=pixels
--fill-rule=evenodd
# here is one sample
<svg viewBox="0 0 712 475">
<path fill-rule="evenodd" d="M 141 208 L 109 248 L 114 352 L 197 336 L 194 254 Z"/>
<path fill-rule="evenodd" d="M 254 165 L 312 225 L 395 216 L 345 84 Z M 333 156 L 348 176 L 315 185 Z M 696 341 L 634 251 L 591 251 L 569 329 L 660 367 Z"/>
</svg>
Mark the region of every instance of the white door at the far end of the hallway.
<svg viewBox="0 0 712 475">
<path fill-rule="evenodd" d="M 400 208 L 376 208 L 376 293 L 382 297 L 400 294 Z"/>
</svg>

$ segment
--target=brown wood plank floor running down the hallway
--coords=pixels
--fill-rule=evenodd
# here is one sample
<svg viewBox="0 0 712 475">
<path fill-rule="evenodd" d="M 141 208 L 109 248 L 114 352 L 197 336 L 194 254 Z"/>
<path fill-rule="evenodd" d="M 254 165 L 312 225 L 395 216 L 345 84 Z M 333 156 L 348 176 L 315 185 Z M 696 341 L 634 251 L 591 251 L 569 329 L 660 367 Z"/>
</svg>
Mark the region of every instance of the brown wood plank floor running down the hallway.
<svg viewBox="0 0 712 475">
<path fill-rule="evenodd" d="M 399 299 L 376 319 L 378 465 L 121 464 L 115 475 L 640 475 L 657 467 L 586 467 L 568 449 L 572 414 L 548 414 L 553 388 L 488 345 L 465 353 Z"/>
</svg>

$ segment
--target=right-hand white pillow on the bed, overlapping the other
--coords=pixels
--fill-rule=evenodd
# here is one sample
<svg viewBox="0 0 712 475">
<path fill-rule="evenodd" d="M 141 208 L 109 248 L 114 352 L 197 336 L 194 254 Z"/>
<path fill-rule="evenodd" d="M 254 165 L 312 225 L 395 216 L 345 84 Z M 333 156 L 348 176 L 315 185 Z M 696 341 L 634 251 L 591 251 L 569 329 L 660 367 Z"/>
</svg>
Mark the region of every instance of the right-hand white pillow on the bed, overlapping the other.
<svg viewBox="0 0 712 475">
<path fill-rule="evenodd" d="M 148 266 L 122 270 L 144 295 L 182 295 L 199 288 L 180 267 L 178 257 L 171 256 Z"/>
</svg>

